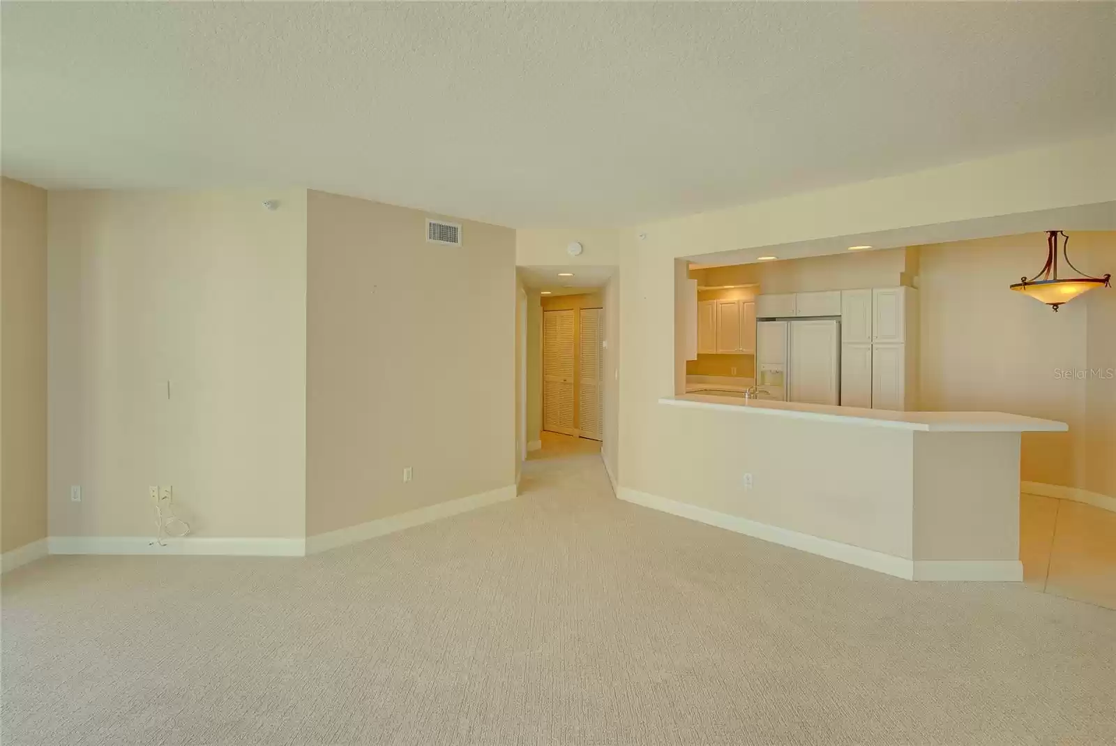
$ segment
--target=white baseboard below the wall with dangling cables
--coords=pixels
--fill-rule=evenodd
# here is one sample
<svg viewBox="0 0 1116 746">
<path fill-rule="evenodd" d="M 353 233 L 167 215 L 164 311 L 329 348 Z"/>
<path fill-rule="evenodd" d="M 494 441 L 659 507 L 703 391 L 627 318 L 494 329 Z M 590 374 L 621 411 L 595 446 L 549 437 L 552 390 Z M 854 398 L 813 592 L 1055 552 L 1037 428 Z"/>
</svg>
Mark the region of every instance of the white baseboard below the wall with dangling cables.
<svg viewBox="0 0 1116 746">
<path fill-rule="evenodd" d="M 160 546 L 151 536 L 51 536 L 50 554 L 211 554 L 301 557 L 306 541 L 285 537 L 185 536 Z"/>
</svg>

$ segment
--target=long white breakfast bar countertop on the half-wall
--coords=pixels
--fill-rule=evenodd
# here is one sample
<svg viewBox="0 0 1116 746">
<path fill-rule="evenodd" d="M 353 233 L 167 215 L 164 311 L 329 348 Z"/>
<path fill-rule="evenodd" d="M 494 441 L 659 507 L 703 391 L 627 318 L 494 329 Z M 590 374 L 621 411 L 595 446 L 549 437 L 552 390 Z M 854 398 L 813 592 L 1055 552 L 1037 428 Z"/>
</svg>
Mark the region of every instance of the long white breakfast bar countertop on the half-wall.
<svg viewBox="0 0 1116 746">
<path fill-rule="evenodd" d="M 1006 412 L 895 412 L 882 409 L 799 404 L 797 402 L 756 399 L 745 402 L 743 399 L 704 394 L 664 396 L 658 400 L 658 403 L 745 414 L 768 414 L 801 420 L 934 432 L 1064 432 L 1069 430 L 1069 425 L 1065 422 L 1040 420 Z"/>
</svg>

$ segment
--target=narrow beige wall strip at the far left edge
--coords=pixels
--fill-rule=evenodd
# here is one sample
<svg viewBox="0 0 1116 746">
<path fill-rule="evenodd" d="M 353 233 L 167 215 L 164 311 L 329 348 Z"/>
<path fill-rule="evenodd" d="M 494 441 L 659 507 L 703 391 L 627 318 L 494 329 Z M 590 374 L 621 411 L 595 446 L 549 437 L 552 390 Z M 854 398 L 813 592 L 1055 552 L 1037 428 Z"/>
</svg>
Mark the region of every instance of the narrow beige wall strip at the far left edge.
<svg viewBox="0 0 1116 746">
<path fill-rule="evenodd" d="M 47 192 L 0 192 L 0 552 L 47 536 Z"/>
</svg>

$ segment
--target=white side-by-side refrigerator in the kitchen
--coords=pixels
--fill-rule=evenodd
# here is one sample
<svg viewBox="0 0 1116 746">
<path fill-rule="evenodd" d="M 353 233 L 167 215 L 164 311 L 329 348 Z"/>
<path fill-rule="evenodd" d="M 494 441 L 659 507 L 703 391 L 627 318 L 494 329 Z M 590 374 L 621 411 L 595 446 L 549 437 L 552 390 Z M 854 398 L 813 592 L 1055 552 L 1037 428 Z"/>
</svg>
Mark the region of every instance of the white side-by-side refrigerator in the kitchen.
<svg viewBox="0 0 1116 746">
<path fill-rule="evenodd" d="M 756 328 L 756 386 L 762 399 L 840 404 L 840 321 L 775 319 Z"/>
</svg>

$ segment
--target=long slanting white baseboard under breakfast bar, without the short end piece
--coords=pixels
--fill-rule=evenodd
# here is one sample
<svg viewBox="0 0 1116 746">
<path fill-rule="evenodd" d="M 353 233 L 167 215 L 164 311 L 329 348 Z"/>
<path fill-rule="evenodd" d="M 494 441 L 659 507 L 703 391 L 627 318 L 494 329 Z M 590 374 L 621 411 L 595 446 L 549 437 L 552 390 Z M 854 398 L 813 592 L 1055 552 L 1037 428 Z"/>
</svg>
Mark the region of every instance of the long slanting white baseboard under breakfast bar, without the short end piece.
<svg viewBox="0 0 1116 746">
<path fill-rule="evenodd" d="M 725 513 L 718 513 L 716 510 L 690 505 L 689 503 L 680 503 L 665 497 L 658 497 L 657 495 L 641 492 L 628 487 L 620 487 L 617 497 L 646 508 L 662 510 L 663 513 L 670 513 L 683 518 L 709 524 L 710 526 L 716 526 L 718 528 L 725 528 L 738 534 L 744 534 L 745 536 L 761 538 L 764 542 L 801 549 L 810 554 L 828 557 L 829 560 L 846 562 L 858 567 L 867 567 L 878 573 L 905 580 L 914 578 L 914 563 L 904 557 L 865 549 L 852 544 L 841 544 L 840 542 L 833 542 L 827 538 L 810 536 L 809 534 L 800 534 L 789 528 L 770 526 L 757 520 L 741 518 L 740 516 L 730 516 Z"/>
</svg>

